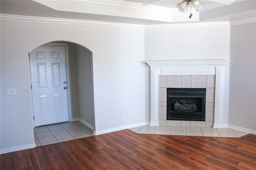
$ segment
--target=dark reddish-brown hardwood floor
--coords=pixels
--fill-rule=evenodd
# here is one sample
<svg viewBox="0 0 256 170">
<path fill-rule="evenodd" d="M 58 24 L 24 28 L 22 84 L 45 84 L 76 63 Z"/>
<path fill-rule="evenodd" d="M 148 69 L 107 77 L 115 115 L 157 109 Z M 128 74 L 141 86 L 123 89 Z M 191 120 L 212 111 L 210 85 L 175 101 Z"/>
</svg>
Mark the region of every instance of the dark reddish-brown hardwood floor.
<svg viewBox="0 0 256 170">
<path fill-rule="evenodd" d="M 91 136 L 1 155 L 1 170 L 255 170 L 256 135 L 242 138 L 136 134 Z"/>
</svg>

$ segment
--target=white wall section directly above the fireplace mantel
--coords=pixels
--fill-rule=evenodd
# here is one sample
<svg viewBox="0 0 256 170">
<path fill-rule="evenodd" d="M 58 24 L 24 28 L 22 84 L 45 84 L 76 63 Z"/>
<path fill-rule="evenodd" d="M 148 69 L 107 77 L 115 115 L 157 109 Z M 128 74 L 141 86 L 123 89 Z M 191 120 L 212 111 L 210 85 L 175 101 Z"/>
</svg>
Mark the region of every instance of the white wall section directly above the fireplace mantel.
<svg viewBox="0 0 256 170">
<path fill-rule="evenodd" d="M 228 24 L 145 30 L 146 61 L 229 60 Z"/>
</svg>

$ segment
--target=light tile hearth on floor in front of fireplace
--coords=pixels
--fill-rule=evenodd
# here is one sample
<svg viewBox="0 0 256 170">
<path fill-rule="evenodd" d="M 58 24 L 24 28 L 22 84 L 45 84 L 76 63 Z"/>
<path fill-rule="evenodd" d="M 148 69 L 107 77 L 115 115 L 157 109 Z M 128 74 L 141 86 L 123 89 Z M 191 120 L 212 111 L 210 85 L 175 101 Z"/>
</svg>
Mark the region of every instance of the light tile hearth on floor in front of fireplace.
<svg viewBox="0 0 256 170">
<path fill-rule="evenodd" d="M 188 127 L 188 126 L 140 126 L 130 130 L 136 133 L 158 134 L 158 135 L 186 135 L 186 136 L 207 136 L 207 137 L 242 137 L 248 133 L 223 128 L 212 127 Z"/>
</svg>

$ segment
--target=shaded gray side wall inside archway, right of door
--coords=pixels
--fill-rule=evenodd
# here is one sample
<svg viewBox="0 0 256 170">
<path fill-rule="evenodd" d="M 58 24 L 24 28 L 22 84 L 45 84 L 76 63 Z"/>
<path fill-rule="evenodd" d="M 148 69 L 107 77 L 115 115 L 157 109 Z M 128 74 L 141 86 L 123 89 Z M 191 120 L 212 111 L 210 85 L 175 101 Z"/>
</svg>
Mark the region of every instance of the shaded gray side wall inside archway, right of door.
<svg viewBox="0 0 256 170">
<path fill-rule="evenodd" d="M 72 118 L 80 117 L 94 126 L 92 53 L 80 45 L 68 43 L 68 56 Z"/>
</svg>

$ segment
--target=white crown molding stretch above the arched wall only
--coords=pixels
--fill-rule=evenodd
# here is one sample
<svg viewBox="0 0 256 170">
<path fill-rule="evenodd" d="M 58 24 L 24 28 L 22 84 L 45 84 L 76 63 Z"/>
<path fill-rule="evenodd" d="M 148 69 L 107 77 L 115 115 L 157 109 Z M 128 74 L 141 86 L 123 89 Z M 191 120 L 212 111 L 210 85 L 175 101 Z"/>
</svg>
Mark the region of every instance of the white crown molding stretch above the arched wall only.
<svg viewBox="0 0 256 170">
<path fill-rule="evenodd" d="M 18 15 L 9 15 L 9 14 L 0 14 L 0 19 L 3 21 L 23 21 L 23 22 L 58 23 L 58 24 L 144 29 L 144 25 L 138 25 L 138 24 L 90 21 L 90 20 L 75 20 L 75 19 L 63 19 L 63 18 L 34 17 L 34 16 L 18 16 Z"/>
</svg>

